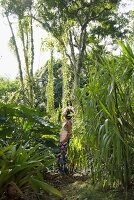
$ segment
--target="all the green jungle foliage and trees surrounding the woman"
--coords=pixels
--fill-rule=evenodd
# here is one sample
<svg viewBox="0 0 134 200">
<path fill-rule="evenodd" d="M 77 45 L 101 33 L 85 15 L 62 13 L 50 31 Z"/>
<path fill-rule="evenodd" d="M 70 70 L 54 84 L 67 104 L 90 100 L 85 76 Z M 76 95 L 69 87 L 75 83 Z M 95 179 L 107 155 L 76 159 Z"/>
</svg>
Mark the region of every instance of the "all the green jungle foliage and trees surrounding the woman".
<svg viewBox="0 0 134 200">
<path fill-rule="evenodd" d="M 0 78 L 0 194 L 13 184 L 19 193 L 31 185 L 38 195 L 45 190 L 61 196 L 43 174 L 56 171 L 67 105 L 75 110 L 70 172 L 86 173 L 102 188 L 133 185 L 134 13 L 120 13 L 120 4 L 0 1 L 18 61 L 16 80 Z M 34 74 L 35 22 L 50 35 L 42 39 L 50 59 Z"/>
</svg>

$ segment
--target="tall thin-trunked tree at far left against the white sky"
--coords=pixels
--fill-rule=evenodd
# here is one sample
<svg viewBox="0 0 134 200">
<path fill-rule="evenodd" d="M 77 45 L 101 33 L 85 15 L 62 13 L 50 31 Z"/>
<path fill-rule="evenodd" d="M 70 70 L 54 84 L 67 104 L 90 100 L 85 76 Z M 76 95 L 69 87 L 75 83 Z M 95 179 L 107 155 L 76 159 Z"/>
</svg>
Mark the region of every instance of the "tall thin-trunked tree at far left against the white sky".
<svg viewBox="0 0 134 200">
<path fill-rule="evenodd" d="M 23 91 L 23 100 L 27 99 L 27 103 L 33 107 L 33 63 L 34 63 L 34 42 L 33 42 L 33 18 L 32 18 L 32 0 L 1 0 L 4 14 L 7 17 L 11 33 L 13 46 L 18 60 L 20 82 Z M 23 73 L 23 59 L 20 54 L 20 46 L 17 44 L 17 37 L 13 30 L 11 18 L 15 16 L 18 22 L 19 37 L 22 47 L 25 63 L 25 77 Z M 25 79 L 25 83 L 24 83 Z M 25 94 L 24 94 L 25 93 Z M 25 102 L 26 103 L 26 102 Z"/>
</svg>

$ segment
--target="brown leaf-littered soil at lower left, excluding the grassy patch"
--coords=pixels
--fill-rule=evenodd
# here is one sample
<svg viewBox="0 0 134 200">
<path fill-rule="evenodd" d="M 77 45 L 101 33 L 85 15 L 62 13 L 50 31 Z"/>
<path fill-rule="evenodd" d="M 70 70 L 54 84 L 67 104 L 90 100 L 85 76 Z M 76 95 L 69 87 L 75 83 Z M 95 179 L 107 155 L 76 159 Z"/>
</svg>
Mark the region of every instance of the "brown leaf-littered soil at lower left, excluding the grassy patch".
<svg viewBox="0 0 134 200">
<path fill-rule="evenodd" d="M 50 184 L 54 188 L 61 191 L 63 194 L 62 198 L 55 197 L 52 194 L 40 192 L 40 194 L 36 195 L 30 186 L 23 188 L 23 195 L 20 195 L 16 192 L 15 187 L 11 186 L 8 191 L 6 190 L 0 200 L 63 200 L 65 199 L 66 188 L 70 185 L 75 183 L 76 181 L 85 181 L 87 178 L 80 175 L 75 176 L 62 176 L 56 173 L 45 173 L 44 174 L 44 182 Z M 67 195 L 68 196 L 68 195 Z"/>
</svg>

